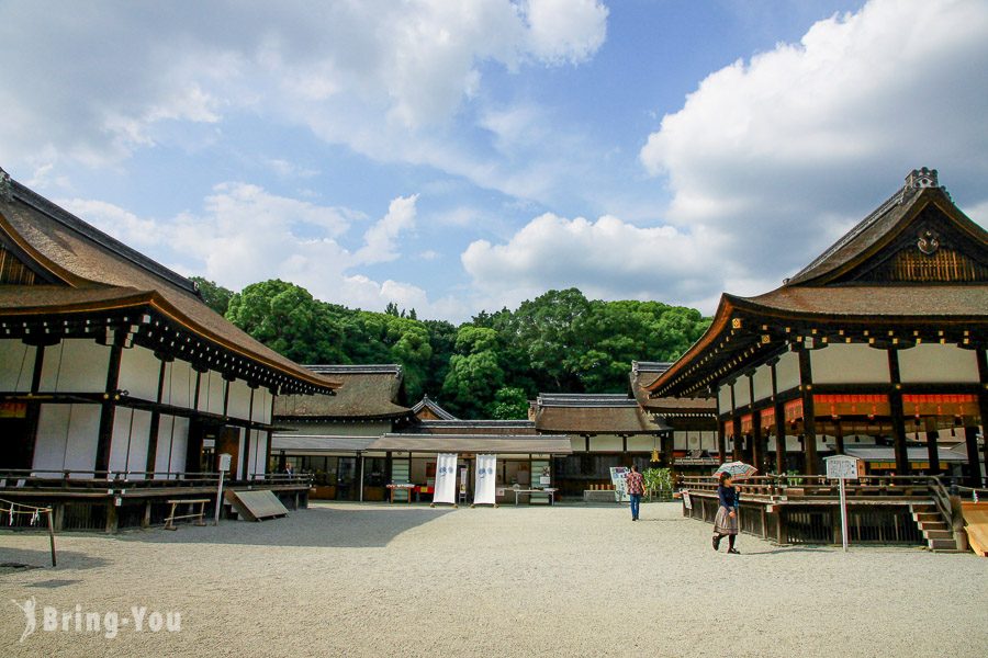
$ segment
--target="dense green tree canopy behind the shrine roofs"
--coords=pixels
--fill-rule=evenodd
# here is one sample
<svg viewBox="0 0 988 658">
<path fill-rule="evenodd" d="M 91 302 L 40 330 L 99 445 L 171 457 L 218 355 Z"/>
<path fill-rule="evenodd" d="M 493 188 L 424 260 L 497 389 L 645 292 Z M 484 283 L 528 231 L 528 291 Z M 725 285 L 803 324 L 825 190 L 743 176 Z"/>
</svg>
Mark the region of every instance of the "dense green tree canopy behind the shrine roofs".
<svg viewBox="0 0 988 658">
<path fill-rule="evenodd" d="M 209 285 L 209 291 L 206 290 Z M 480 313 L 459 327 L 315 299 L 272 280 L 229 293 L 200 281 L 215 309 L 300 363 L 400 363 L 411 401 L 423 394 L 461 418 L 521 419 L 539 392 L 624 393 L 632 361 L 672 361 L 709 326 L 693 308 L 587 299 L 549 291 L 516 310 Z"/>
</svg>

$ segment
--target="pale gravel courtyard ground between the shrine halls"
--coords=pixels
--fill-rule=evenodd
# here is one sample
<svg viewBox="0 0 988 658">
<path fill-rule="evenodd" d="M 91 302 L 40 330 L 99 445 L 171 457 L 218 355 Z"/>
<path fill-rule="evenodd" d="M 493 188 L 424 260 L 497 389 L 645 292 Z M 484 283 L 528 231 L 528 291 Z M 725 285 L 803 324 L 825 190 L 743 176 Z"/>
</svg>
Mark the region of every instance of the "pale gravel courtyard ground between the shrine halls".
<svg viewBox="0 0 988 658">
<path fill-rule="evenodd" d="M 677 504 L 429 509 L 316 504 L 220 527 L 58 537 L 56 569 L 0 569 L 3 656 L 978 656 L 988 559 L 776 547 Z M 0 563 L 46 537 L 0 533 Z M 19 643 L 34 597 L 37 631 Z M 42 610 L 146 606 L 115 638 Z M 181 629 L 147 628 L 153 612 Z"/>
</svg>

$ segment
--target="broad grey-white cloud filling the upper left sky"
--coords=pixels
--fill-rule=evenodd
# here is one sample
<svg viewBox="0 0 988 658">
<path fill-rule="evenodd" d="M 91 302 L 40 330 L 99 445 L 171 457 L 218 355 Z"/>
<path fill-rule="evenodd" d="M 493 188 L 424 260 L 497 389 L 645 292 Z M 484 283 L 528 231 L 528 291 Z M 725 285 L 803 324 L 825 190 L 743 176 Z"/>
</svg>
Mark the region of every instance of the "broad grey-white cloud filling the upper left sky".
<svg viewBox="0 0 988 658">
<path fill-rule="evenodd" d="M 0 152 L 13 170 L 106 166 L 173 139 L 169 123 L 248 112 L 507 186 L 450 125 L 476 98 L 482 65 L 583 61 L 606 20 L 592 0 L 2 3 L 0 58 L 18 65 L 0 68 Z"/>
</svg>

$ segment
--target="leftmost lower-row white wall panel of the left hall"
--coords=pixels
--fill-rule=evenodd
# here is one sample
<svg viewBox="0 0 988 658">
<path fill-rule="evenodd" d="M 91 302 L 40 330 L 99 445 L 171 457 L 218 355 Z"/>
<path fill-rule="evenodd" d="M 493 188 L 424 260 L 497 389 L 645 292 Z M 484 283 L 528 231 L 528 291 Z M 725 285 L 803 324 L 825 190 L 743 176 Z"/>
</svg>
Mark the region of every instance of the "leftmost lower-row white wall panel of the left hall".
<svg viewBox="0 0 988 658">
<path fill-rule="evenodd" d="M 91 470 L 99 432 L 99 405 L 42 405 L 33 468 Z"/>
</svg>

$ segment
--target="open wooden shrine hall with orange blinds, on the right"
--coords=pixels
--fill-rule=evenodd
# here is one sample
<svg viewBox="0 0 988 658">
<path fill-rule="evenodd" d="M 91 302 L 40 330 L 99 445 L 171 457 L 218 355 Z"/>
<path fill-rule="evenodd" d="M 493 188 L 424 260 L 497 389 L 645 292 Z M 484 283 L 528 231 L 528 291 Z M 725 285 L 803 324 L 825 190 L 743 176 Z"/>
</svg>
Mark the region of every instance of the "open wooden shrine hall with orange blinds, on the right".
<svg viewBox="0 0 988 658">
<path fill-rule="evenodd" d="M 817 474 L 824 453 L 868 445 L 897 475 L 941 474 L 953 436 L 980 486 L 986 341 L 988 234 L 921 169 L 779 288 L 725 294 L 647 389 L 715 399 L 720 458 L 762 473 Z"/>
</svg>

